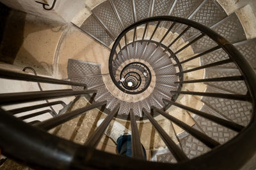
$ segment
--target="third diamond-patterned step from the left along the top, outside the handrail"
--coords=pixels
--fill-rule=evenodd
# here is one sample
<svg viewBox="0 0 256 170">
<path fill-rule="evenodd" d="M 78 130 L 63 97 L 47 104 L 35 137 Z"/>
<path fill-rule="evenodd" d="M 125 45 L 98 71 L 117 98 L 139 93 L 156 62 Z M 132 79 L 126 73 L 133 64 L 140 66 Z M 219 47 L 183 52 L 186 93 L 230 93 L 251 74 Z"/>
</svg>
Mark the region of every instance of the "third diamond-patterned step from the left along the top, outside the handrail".
<svg viewBox="0 0 256 170">
<path fill-rule="evenodd" d="M 114 10 L 123 26 L 123 29 L 134 23 L 131 1 L 111 0 Z"/>
</svg>

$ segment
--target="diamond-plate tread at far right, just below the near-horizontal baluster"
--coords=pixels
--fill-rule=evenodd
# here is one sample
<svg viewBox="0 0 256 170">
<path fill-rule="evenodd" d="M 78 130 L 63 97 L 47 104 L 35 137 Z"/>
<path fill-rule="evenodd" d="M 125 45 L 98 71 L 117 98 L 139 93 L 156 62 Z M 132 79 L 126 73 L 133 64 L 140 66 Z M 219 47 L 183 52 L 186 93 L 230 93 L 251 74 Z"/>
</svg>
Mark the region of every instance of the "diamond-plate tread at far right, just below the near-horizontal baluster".
<svg viewBox="0 0 256 170">
<path fill-rule="evenodd" d="M 206 92 L 216 93 L 220 91 L 218 91 L 218 89 L 207 87 Z M 222 115 L 237 124 L 246 126 L 250 122 L 252 116 L 252 104 L 250 103 L 215 97 L 203 97 L 202 102 L 205 103 L 208 108 L 212 108 L 212 110 L 219 113 L 219 115 Z"/>
</svg>

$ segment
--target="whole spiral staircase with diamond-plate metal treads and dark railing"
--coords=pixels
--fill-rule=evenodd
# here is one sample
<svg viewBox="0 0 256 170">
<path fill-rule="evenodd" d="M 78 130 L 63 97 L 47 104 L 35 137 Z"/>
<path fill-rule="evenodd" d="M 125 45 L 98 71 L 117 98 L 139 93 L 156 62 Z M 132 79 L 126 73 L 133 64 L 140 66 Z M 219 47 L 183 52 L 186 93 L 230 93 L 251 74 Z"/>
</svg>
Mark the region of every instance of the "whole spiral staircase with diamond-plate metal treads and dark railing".
<svg viewBox="0 0 256 170">
<path fill-rule="evenodd" d="M 1 69 L 1 78 L 72 87 L 3 93 L 1 106 L 76 96 L 3 107 L 3 155 L 35 169 L 255 169 L 256 39 L 236 12 L 214 0 L 109 0 L 81 20 L 70 27 L 109 50 L 109 72 L 72 58 L 67 80 Z M 58 104 L 59 113 L 18 115 Z M 113 119 L 131 129 L 133 158 L 104 136 Z"/>
</svg>

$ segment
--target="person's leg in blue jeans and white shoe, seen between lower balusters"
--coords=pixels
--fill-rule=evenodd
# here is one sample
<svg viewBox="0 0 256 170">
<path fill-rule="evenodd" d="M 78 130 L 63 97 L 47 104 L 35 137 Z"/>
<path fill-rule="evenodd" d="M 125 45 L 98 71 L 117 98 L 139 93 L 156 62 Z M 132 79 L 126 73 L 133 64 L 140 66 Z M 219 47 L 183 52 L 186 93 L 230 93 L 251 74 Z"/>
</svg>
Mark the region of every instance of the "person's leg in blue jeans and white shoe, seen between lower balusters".
<svg viewBox="0 0 256 170">
<path fill-rule="evenodd" d="M 100 119 L 97 122 L 97 127 L 99 127 L 103 120 L 104 119 Z M 124 125 L 112 120 L 104 133 L 106 134 L 106 136 L 115 141 L 115 143 L 117 144 L 116 150 L 120 155 L 132 157 L 131 131 L 125 128 Z M 147 159 L 147 154 L 143 145 L 142 148 L 145 159 Z"/>
</svg>

